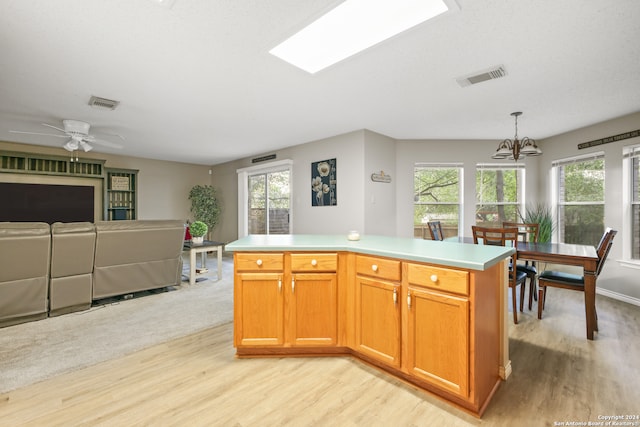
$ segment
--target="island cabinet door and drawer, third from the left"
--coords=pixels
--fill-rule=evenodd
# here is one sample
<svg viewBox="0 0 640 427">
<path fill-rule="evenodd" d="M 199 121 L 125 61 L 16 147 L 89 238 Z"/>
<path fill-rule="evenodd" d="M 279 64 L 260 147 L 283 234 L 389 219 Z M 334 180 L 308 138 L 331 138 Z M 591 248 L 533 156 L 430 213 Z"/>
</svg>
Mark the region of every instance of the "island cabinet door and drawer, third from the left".
<svg viewBox="0 0 640 427">
<path fill-rule="evenodd" d="M 356 256 L 355 350 L 400 367 L 401 263 Z"/>
</svg>

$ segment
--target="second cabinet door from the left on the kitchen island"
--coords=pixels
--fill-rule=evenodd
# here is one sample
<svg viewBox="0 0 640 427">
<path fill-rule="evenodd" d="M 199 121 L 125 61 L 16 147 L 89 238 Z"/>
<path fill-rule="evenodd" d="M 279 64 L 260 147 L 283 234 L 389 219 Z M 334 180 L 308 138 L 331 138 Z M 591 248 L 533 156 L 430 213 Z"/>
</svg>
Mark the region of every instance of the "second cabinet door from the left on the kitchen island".
<svg viewBox="0 0 640 427">
<path fill-rule="evenodd" d="M 287 322 L 294 346 L 333 346 L 338 340 L 335 273 L 291 276 Z"/>
</svg>

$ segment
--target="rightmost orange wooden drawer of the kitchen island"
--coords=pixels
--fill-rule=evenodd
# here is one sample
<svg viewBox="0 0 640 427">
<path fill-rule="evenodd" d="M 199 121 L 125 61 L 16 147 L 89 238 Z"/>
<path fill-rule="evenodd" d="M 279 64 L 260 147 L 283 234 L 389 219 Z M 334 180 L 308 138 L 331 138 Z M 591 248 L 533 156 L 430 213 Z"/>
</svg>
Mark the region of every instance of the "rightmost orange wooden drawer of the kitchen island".
<svg viewBox="0 0 640 427">
<path fill-rule="evenodd" d="M 408 264 L 407 279 L 414 285 L 469 295 L 469 272 L 428 265 Z"/>
</svg>

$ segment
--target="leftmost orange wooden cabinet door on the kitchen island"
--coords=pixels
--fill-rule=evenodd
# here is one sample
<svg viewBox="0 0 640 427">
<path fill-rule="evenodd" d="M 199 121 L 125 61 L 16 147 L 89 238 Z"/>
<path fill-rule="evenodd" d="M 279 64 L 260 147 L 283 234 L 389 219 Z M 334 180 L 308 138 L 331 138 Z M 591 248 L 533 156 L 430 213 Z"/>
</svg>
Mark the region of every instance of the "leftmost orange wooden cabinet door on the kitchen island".
<svg viewBox="0 0 640 427">
<path fill-rule="evenodd" d="M 238 273 L 234 292 L 236 346 L 283 345 L 282 274 Z"/>
</svg>

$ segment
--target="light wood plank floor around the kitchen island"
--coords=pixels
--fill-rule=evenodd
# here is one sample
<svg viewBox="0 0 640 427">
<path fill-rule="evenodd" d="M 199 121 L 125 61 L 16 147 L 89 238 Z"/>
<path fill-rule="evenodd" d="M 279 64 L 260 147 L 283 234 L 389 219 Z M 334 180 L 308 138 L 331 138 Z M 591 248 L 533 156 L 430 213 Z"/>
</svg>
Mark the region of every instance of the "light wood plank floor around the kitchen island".
<svg viewBox="0 0 640 427">
<path fill-rule="evenodd" d="M 0 394 L 2 426 L 553 426 L 640 413 L 640 307 L 550 289 L 510 330 L 513 374 L 476 419 L 350 358 L 235 359 L 232 324 Z M 535 306 L 534 306 L 535 310 Z"/>
</svg>

